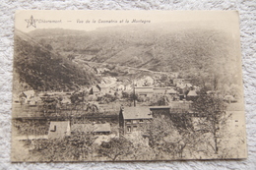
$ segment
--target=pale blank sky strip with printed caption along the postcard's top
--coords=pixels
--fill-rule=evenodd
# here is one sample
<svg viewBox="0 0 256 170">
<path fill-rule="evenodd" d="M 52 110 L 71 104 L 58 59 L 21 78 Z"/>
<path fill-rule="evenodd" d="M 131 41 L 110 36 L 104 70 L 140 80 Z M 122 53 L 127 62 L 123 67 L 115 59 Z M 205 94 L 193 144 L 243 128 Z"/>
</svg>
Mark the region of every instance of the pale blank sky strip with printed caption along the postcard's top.
<svg viewBox="0 0 256 170">
<path fill-rule="evenodd" d="M 29 32 L 37 28 L 67 28 L 94 30 L 96 28 L 188 22 L 199 26 L 215 27 L 228 31 L 239 30 L 235 11 L 17 11 L 15 27 Z M 33 18 L 33 20 L 31 20 Z M 136 20 L 138 23 L 132 23 Z M 144 23 L 142 23 L 145 22 Z M 107 22 L 107 23 L 104 23 Z M 109 22 L 109 23 L 108 23 Z M 129 22 L 129 23 L 127 23 Z M 213 24 L 213 25 L 211 25 Z"/>
</svg>

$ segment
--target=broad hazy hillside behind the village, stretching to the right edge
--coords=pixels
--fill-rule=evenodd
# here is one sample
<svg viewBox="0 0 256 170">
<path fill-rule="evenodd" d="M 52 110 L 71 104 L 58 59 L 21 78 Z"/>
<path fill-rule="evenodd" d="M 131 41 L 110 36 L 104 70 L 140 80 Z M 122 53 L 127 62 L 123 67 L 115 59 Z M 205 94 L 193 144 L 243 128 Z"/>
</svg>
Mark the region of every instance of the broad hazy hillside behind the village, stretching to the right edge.
<svg viewBox="0 0 256 170">
<path fill-rule="evenodd" d="M 219 28 L 177 23 L 77 32 L 37 29 L 30 34 L 60 54 L 86 61 L 179 72 L 196 83 L 218 82 L 216 87 L 241 83 L 239 45 L 234 43 L 238 36 Z"/>
</svg>

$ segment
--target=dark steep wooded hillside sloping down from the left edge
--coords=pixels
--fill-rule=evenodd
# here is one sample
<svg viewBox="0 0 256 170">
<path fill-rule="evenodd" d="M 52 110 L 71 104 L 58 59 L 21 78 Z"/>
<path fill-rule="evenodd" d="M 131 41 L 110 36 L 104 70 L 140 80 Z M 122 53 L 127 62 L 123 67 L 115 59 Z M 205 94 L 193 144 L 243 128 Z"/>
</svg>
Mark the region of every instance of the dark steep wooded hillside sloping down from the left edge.
<svg viewBox="0 0 256 170">
<path fill-rule="evenodd" d="M 38 90 L 68 90 L 96 81 L 93 73 L 56 52 L 50 44 L 40 44 L 30 35 L 16 30 L 14 89 L 27 85 L 27 88 Z"/>
</svg>

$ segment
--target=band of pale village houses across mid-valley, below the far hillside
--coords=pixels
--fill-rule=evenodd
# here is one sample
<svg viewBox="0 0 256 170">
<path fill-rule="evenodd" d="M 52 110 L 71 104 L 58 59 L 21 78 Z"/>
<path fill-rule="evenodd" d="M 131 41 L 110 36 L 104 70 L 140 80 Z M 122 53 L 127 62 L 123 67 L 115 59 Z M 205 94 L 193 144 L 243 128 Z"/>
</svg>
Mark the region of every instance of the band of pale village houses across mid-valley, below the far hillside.
<svg viewBox="0 0 256 170">
<path fill-rule="evenodd" d="M 152 77 L 144 77 L 136 80 L 133 84 L 116 82 L 111 83 L 102 82 L 98 85 L 93 85 L 89 88 L 91 95 L 104 95 L 114 94 L 115 92 L 135 92 L 142 97 L 154 97 L 156 95 L 168 94 L 172 97 L 172 100 L 192 100 L 197 96 L 196 91 L 200 89 L 199 86 L 191 85 L 191 80 L 188 79 L 173 79 L 172 83 L 168 85 L 162 85 L 160 79 L 153 79 Z M 134 91 L 133 91 L 134 90 Z"/>
</svg>

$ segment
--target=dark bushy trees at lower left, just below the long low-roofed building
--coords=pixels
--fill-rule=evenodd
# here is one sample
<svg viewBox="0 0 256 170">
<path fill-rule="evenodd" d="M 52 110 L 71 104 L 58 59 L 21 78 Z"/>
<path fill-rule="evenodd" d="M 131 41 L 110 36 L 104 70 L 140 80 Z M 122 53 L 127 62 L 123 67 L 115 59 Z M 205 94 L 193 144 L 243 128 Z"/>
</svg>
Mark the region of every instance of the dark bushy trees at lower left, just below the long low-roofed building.
<svg viewBox="0 0 256 170">
<path fill-rule="evenodd" d="M 65 139 L 36 140 L 32 153 L 39 161 L 85 160 L 93 153 L 96 141 L 90 133 L 75 133 Z"/>
</svg>

